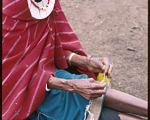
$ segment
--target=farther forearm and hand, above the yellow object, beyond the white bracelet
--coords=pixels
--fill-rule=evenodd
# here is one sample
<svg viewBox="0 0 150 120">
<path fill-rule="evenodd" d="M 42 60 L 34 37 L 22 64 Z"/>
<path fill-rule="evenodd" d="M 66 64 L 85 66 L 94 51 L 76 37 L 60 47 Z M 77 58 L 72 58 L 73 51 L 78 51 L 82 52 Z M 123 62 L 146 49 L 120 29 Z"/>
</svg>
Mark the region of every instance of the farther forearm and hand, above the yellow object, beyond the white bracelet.
<svg viewBox="0 0 150 120">
<path fill-rule="evenodd" d="M 71 62 L 75 66 L 82 66 L 83 68 L 88 69 L 89 71 L 94 73 L 102 72 L 111 77 L 113 64 L 107 57 L 86 57 L 76 54 L 72 58 Z"/>
</svg>

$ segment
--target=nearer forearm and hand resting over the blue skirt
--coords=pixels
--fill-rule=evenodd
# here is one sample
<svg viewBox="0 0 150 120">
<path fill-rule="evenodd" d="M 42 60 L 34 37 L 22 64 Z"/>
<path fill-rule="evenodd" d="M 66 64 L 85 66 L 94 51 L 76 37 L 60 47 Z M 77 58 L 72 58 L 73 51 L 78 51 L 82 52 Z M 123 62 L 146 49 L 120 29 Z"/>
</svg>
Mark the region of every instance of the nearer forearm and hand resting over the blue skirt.
<svg viewBox="0 0 150 120">
<path fill-rule="evenodd" d="M 92 100 L 105 93 L 104 88 L 106 83 L 103 81 L 95 81 L 93 78 L 65 80 L 51 77 L 47 82 L 47 86 L 49 89 L 62 89 L 76 92 L 84 98 Z"/>
</svg>

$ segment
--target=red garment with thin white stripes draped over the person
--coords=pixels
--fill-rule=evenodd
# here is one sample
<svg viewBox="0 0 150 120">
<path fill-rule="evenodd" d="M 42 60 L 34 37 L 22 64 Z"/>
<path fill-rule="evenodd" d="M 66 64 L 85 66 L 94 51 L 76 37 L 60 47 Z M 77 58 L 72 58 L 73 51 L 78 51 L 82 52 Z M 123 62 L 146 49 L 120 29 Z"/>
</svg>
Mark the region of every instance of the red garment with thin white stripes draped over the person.
<svg viewBox="0 0 150 120">
<path fill-rule="evenodd" d="M 26 0 L 3 1 L 2 118 L 26 119 L 39 106 L 55 68 L 67 68 L 66 51 L 85 55 L 56 0 L 51 15 L 31 17 Z"/>
</svg>

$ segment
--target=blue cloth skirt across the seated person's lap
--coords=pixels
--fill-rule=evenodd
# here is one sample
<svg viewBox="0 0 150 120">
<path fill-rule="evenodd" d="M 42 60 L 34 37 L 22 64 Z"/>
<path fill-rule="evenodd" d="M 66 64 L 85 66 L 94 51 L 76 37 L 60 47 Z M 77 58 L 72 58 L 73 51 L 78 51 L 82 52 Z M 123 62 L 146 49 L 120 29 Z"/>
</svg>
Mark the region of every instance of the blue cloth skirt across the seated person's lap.
<svg viewBox="0 0 150 120">
<path fill-rule="evenodd" d="M 77 75 L 66 70 L 56 69 L 56 77 L 67 80 L 86 79 L 87 75 Z M 88 116 L 86 107 L 90 101 L 78 93 L 52 89 L 46 91 L 45 98 L 38 109 L 30 115 L 30 120 L 85 120 Z M 109 118 L 109 119 L 108 119 Z M 104 108 L 99 120 L 120 120 L 118 112 Z"/>
</svg>

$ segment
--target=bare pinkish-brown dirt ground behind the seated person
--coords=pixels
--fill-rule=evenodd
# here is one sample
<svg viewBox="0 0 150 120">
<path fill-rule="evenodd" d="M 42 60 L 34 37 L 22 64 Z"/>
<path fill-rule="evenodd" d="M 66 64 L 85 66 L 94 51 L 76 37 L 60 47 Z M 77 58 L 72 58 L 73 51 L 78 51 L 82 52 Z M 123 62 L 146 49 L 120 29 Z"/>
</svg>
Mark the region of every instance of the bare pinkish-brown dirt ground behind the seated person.
<svg viewBox="0 0 150 120">
<path fill-rule="evenodd" d="M 112 87 L 148 99 L 148 0 L 61 0 L 82 45 L 114 63 Z"/>
</svg>

